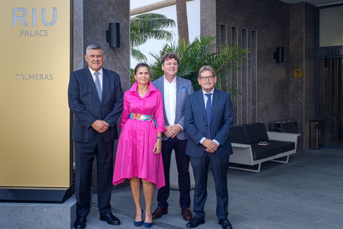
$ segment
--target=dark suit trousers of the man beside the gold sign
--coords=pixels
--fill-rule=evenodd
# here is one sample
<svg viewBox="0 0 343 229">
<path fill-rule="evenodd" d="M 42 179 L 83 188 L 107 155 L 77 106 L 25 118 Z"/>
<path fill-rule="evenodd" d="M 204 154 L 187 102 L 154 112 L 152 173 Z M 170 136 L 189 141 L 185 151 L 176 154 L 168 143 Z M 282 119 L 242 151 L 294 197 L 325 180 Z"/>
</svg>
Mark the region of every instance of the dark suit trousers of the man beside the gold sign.
<svg viewBox="0 0 343 229">
<path fill-rule="evenodd" d="M 100 133 L 91 143 L 74 141 L 76 214 L 86 217 L 90 211 L 92 167 L 97 156 L 98 209 L 101 216 L 111 212 L 112 158 L 114 142 L 105 142 Z"/>
</svg>

